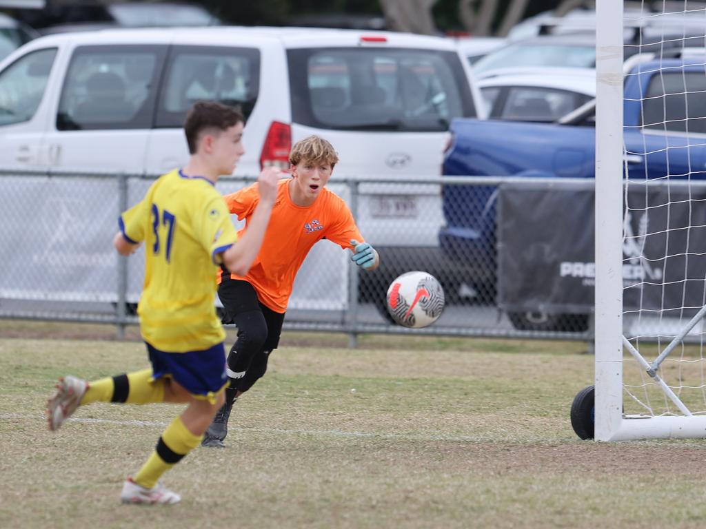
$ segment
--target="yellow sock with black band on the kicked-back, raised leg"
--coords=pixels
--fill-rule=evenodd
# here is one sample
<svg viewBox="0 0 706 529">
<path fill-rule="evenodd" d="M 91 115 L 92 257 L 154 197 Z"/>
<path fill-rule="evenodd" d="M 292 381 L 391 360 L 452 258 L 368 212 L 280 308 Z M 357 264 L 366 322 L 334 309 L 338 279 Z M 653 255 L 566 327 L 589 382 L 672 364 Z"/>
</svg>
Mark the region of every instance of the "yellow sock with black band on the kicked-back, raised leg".
<svg viewBox="0 0 706 529">
<path fill-rule="evenodd" d="M 164 379 L 151 380 L 150 368 L 88 383 L 81 405 L 92 402 L 149 404 L 164 402 Z"/>
</svg>

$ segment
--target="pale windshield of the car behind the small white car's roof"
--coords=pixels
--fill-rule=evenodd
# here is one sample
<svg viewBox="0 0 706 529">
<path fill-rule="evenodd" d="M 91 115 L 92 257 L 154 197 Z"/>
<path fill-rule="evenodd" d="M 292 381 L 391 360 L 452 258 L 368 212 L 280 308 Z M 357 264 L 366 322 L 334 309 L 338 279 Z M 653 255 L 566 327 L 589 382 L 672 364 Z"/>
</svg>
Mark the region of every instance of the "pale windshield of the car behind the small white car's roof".
<svg viewBox="0 0 706 529">
<path fill-rule="evenodd" d="M 500 68 L 554 66 L 563 68 L 594 68 L 594 46 L 571 44 L 511 44 L 480 59 L 473 66 L 476 74 Z"/>
</svg>

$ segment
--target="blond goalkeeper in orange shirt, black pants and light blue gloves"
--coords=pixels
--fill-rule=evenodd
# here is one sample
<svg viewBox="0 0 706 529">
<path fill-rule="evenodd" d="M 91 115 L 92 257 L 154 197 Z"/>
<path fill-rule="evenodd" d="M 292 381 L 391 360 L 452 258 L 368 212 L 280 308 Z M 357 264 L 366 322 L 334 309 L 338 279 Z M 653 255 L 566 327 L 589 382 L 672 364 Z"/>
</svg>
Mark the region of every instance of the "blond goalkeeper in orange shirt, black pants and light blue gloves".
<svg viewBox="0 0 706 529">
<path fill-rule="evenodd" d="M 238 338 L 228 355 L 225 403 L 208 427 L 203 446 L 224 446 L 234 401 L 265 374 L 270 353 L 280 342 L 294 278 L 311 247 L 326 238 L 352 250 L 351 258 L 361 268 L 378 267 L 378 253 L 364 242 L 346 203 L 325 188 L 337 162 L 333 146 L 323 138 L 297 142 L 289 154 L 292 178 L 277 186 L 270 224 L 250 271 L 220 274 L 223 322 L 237 325 Z M 246 229 L 261 200 L 258 187 L 225 197 L 230 212 L 246 219 Z"/>
</svg>

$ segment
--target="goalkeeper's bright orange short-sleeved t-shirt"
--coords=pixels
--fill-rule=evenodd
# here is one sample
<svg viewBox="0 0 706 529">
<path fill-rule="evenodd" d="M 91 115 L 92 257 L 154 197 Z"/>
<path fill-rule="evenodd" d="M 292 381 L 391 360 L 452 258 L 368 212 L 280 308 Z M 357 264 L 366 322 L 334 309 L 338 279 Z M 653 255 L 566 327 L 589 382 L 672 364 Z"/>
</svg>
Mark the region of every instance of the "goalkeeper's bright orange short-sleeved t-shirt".
<svg viewBox="0 0 706 529">
<path fill-rule="evenodd" d="M 260 302 L 275 312 L 285 312 L 292 294 L 294 278 L 311 247 L 321 239 L 352 248 L 350 240 L 364 242 L 353 215 L 341 197 L 326 188 L 311 206 L 297 206 L 289 198 L 291 178 L 277 183 L 277 200 L 272 209 L 270 224 L 253 265 L 245 276 L 231 274 L 233 279 L 248 281 L 258 293 Z M 250 217 L 258 205 L 258 184 L 225 195 L 225 203 L 238 219 Z M 220 283 L 220 274 L 218 277 Z"/>
</svg>

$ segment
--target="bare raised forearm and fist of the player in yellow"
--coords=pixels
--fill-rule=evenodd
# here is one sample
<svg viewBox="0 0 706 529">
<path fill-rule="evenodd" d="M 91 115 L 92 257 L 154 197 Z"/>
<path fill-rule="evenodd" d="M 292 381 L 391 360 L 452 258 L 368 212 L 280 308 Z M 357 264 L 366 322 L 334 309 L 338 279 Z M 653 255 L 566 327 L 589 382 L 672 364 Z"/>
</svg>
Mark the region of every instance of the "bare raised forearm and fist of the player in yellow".
<svg viewBox="0 0 706 529">
<path fill-rule="evenodd" d="M 282 171 L 274 167 L 268 167 L 261 172 L 258 178 L 260 197 L 248 221 L 248 229 L 244 231 L 238 242 L 225 250 L 221 256 L 223 264 L 230 272 L 239 276 L 247 274 L 258 256 L 277 198 L 277 181 L 280 178 L 282 178 Z"/>
</svg>

